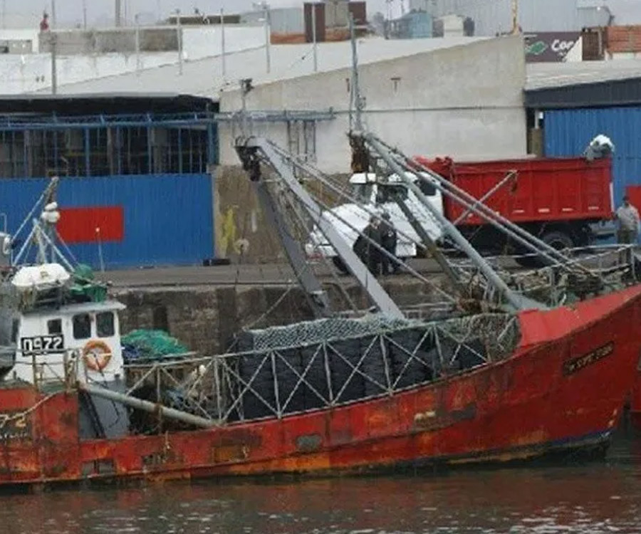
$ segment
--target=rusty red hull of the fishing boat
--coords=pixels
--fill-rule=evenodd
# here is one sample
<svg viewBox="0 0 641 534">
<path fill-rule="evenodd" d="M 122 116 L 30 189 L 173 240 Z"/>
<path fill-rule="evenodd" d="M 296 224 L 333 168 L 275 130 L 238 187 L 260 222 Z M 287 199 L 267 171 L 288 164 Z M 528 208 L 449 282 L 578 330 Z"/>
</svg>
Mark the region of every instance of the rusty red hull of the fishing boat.
<svg viewBox="0 0 641 534">
<path fill-rule="evenodd" d="M 640 320 L 641 286 L 522 313 L 507 360 L 392 397 L 202 431 L 82 441 L 77 397 L 56 394 L 4 425 L 0 483 L 355 472 L 604 445 L 632 387 Z M 0 389 L 5 414 L 37 401 Z"/>
</svg>

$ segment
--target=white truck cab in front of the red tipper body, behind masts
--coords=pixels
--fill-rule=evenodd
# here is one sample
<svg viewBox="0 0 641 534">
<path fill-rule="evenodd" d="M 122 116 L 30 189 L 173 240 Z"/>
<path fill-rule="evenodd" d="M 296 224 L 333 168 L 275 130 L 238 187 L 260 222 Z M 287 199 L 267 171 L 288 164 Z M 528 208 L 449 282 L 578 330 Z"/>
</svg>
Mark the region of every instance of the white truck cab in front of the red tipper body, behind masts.
<svg viewBox="0 0 641 534">
<path fill-rule="evenodd" d="M 441 192 L 430 183 L 429 175 L 422 174 L 422 177 L 427 180 L 417 179 L 411 173 L 407 173 L 407 177 L 415 180 L 415 184 L 420 187 L 430 204 L 442 213 Z M 407 189 L 405 182 L 396 174 L 391 174 L 388 177 L 377 177 L 374 173 L 353 174 L 350 177 L 350 196 L 354 202 L 340 204 L 340 206 L 323 212 L 323 217 L 333 224 L 350 246 L 354 245 L 358 233 L 368 225 L 372 214 L 380 216 L 387 211 L 398 234 L 396 255 L 399 258 L 415 257 L 417 255 L 416 242 L 420 242 L 420 239 L 397 204 L 399 197 L 405 201 L 407 207 L 434 241 L 442 237 L 442 229 L 432 214 L 419 202 L 415 194 Z M 336 252 L 320 232 L 318 226 L 311 232 L 310 239 L 306 244 L 306 253 L 310 258 L 336 258 L 335 263 L 338 261 Z"/>
</svg>

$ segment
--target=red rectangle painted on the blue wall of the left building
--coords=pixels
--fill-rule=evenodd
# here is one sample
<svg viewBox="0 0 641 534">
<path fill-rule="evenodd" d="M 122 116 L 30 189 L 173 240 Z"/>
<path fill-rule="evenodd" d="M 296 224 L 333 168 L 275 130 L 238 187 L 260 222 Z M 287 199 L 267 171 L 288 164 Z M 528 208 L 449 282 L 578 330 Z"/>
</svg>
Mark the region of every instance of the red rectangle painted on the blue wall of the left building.
<svg viewBox="0 0 641 534">
<path fill-rule="evenodd" d="M 123 241 L 123 206 L 92 206 L 61 209 L 58 232 L 67 243 Z M 98 232 L 97 229 L 100 229 Z"/>
</svg>

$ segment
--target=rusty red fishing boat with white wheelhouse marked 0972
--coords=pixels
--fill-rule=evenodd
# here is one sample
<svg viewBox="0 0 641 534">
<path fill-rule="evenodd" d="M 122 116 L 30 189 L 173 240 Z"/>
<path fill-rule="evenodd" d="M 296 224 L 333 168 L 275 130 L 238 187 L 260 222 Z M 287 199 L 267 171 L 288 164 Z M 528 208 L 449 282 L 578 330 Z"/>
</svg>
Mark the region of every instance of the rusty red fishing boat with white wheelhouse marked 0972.
<svg viewBox="0 0 641 534">
<path fill-rule="evenodd" d="M 404 264 L 444 299 L 404 310 L 305 184 L 335 185 L 273 142 L 241 135 L 239 159 L 313 318 L 243 330 L 219 355 L 127 360 L 123 305 L 63 254 L 54 179 L 32 211 L 40 216 L 26 219 L 32 229 L 19 251 L 15 236 L 0 236 L 0 485 L 602 456 L 641 353 L 634 262 L 595 269 L 571 261 L 367 132 L 358 113 L 350 143 L 360 172 L 395 174 L 426 209 L 419 185 L 429 182 L 546 267 L 505 273 L 434 211 L 469 258 L 456 264 L 399 194 L 417 245 L 445 279 L 439 285 Z M 368 306 L 335 309 L 299 237 L 313 233 L 338 253 Z"/>
</svg>

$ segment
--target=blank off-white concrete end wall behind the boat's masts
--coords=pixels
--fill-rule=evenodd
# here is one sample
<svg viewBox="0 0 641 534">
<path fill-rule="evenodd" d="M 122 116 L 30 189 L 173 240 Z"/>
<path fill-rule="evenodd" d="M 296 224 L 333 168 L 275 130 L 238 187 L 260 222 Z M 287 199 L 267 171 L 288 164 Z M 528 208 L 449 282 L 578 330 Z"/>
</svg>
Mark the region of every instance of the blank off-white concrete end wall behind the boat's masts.
<svg viewBox="0 0 641 534">
<path fill-rule="evenodd" d="M 325 172 L 349 172 L 348 78 L 350 70 L 343 69 L 259 85 L 249 93 L 247 107 L 334 108 L 338 118 L 318 123 L 317 164 Z M 392 78 L 399 78 L 396 89 Z M 360 68 L 360 79 L 366 124 L 407 154 L 459 159 L 526 154 L 526 70 L 520 36 L 368 64 Z M 238 91 L 222 94 L 222 111 L 240 107 Z M 238 164 L 231 146 L 237 128 L 221 126 L 219 131 L 222 164 Z M 284 125 L 261 125 L 256 132 L 287 147 Z"/>
</svg>

